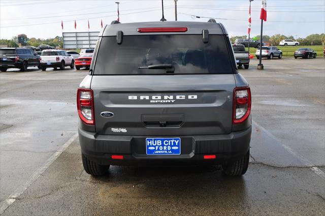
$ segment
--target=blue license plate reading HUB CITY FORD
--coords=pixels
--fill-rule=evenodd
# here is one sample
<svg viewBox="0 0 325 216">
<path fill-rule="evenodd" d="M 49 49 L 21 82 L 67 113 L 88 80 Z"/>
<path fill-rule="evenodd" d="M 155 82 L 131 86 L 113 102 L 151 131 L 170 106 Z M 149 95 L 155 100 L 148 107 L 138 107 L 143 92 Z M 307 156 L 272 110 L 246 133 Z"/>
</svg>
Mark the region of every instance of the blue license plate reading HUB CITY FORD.
<svg viewBox="0 0 325 216">
<path fill-rule="evenodd" d="M 181 138 L 146 138 L 147 155 L 180 155 Z"/>
</svg>

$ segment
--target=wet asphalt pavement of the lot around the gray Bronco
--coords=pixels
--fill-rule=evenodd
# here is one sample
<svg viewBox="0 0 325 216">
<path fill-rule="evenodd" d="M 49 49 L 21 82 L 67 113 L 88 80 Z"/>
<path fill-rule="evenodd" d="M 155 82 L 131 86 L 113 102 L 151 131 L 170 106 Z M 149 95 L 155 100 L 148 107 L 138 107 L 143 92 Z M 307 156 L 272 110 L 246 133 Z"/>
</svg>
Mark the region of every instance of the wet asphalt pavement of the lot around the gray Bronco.
<svg viewBox="0 0 325 216">
<path fill-rule="evenodd" d="M 91 177 L 71 139 L 76 88 L 87 72 L 0 73 L 3 215 L 325 215 L 325 60 L 256 65 L 240 70 L 253 118 L 241 177 L 218 167 L 118 166 Z"/>
</svg>

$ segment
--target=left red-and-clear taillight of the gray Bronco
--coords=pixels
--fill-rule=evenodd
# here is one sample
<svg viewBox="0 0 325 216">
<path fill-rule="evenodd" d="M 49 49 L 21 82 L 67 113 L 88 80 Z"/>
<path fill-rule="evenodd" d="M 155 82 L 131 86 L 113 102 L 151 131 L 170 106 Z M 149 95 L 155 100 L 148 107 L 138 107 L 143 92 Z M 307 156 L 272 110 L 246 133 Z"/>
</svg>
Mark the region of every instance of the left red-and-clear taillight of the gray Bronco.
<svg viewBox="0 0 325 216">
<path fill-rule="evenodd" d="M 77 108 L 80 119 L 87 125 L 94 125 L 93 91 L 88 88 L 78 88 Z"/>
</svg>

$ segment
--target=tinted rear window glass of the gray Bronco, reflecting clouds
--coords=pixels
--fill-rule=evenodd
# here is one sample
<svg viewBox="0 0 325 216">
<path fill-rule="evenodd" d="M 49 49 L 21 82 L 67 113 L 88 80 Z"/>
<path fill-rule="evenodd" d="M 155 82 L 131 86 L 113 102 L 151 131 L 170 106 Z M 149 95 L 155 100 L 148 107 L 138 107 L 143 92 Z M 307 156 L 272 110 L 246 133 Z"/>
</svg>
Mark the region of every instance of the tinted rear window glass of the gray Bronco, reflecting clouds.
<svg viewBox="0 0 325 216">
<path fill-rule="evenodd" d="M 95 63 L 95 75 L 166 74 L 166 69 L 139 69 L 172 65 L 174 74 L 232 74 L 223 35 L 144 35 L 103 37 Z"/>
</svg>

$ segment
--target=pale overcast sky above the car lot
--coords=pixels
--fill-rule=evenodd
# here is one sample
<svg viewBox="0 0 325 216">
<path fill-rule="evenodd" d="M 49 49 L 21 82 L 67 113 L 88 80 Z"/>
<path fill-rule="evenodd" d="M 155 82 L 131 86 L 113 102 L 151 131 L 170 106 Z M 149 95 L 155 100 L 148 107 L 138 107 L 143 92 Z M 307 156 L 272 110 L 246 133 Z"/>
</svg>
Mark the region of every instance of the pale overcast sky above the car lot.
<svg viewBox="0 0 325 216">
<path fill-rule="evenodd" d="M 90 31 L 99 31 L 101 19 L 105 25 L 117 18 L 116 1 L 0 0 L 0 38 L 11 39 L 18 34 L 43 39 L 62 36 L 61 20 L 63 32 L 75 31 L 74 20 L 77 22 L 77 32 L 88 30 L 87 20 Z M 119 2 L 122 23 L 157 21 L 161 18 L 160 0 Z M 208 20 L 190 15 L 223 18 L 217 19 L 217 22 L 225 25 L 230 36 L 247 35 L 248 0 L 178 0 L 177 4 L 178 20 Z M 251 5 L 251 35 L 255 36 L 259 35 L 261 27 L 261 0 L 254 0 Z M 175 20 L 174 0 L 164 0 L 164 8 L 165 18 Z M 296 38 L 325 31 L 324 0 L 267 0 L 267 11 L 268 21 L 264 24 L 266 35 L 283 34 Z"/>
</svg>

